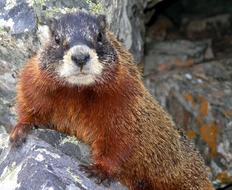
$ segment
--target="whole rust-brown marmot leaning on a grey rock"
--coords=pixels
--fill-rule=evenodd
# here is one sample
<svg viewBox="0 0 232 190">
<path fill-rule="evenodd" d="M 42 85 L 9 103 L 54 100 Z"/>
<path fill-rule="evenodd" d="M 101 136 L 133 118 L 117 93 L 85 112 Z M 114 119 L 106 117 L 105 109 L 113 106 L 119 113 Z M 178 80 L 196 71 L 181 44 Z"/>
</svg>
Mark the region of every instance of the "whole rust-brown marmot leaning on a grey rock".
<svg viewBox="0 0 232 190">
<path fill-rule="evenodd" d="M 132 55 L 104 15 L 77 12 L 45 27 L 37 55 L 17 85 L 20 142 L 32 126 L 53 126 L 91 147 L 86 166 L 131 190 L 210 190 L 207 169 L 149 94 Z"/>
</svg>

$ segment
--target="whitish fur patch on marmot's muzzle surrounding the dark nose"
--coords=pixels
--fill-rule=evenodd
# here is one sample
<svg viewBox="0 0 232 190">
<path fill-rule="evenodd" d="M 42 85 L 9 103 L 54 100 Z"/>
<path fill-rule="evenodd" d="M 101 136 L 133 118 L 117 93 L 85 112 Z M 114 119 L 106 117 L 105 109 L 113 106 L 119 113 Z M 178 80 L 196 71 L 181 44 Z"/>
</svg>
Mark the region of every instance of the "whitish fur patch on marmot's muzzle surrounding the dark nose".
<svg viewBox="0 0 232 190">
<path fill-rule="evenodd" d="M 89 54 L 90 59 L 82 70 L 71 59 L 72 55 Z M 86 45 L 72 47 L 63 57 L 63 62 L 58 67 L 58 75 L 74 85 L 89 85 L 96 81 L 102 73 L 103 65 L 99 62 L 97 53 Z"/>
</svg>

